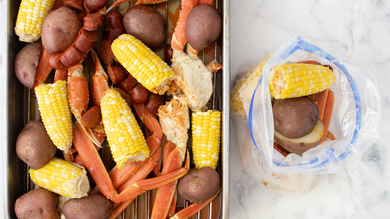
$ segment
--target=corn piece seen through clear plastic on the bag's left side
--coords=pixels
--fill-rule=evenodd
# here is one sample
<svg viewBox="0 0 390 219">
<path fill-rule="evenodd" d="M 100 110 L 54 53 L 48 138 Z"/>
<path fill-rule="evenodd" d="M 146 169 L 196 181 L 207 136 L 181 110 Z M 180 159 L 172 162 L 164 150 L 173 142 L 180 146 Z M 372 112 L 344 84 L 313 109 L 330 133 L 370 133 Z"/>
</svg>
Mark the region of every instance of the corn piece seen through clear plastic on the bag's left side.
<svg viewBox="0 0 390 219">
<path fill-rule="evenodd" d="M 246 117 L 244 107 L 249 106 L 258 78 L 261 75 L 262 68 L 270 56 L 271 54 L 268 54 L 257 62 L 256 65 L 248 70 L 235 83 L 230 92 L 230 106 L 233 113 Z M 246 111 L 249 111 L 249 108 L 247 108 Z"/>
</svg>

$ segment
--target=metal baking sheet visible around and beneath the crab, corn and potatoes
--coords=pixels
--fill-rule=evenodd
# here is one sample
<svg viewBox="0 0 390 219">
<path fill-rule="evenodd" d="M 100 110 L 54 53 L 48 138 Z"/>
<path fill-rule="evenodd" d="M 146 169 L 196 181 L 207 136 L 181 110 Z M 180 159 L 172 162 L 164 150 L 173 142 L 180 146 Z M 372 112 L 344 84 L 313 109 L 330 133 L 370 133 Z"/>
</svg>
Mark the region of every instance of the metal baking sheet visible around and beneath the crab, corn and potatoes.
<svg viewBox="0 0 390 219">
<path fill-rule="evenodd" d="M 176 2 L 174 2 L 176 1 Z M 109 5 L 112 0 L 107 0 Z M 15 24 L 20 0 L 4 0 L 3 1 L 3 45 L 2 45 L 2 80 L 1 83 L 1 99 L 4 100 L 0 108 L 1 139 L 2 150 L 2 199 L 3 199 L 3 216 L 4 218 L 16 218 L 13 205 L 17 197 L 32 189 L 32 184 L 28 176 L 28 167 L 17 156 L 15 151 L 15 142 L 18 133 L 23 128 L 24 124 L 29 120 L 39 119 L 36 99 L 34 98 L 33 90 L 23 86 L 16 78 L 14 73 L 14 59 L 16 53 L 25 45 L 20 42 L 15 35 L 13 27 Z M 164 8 L 165 5 L 165 8 Z M 178 0 L 170 0 L 163 5 L 155 5 L 154 7 L 164 13 L 169 6 L 179 5 Z M 230 66 L 229 66 L 229 1 L 214 0 L 214 5 L 220 11 L 222 16 L 222 32 L 217 40 L 214 51 L 211 52 L 213 57 L 209 57 L 208 53 L 200 54 L 205 62 L 208 59 L 215 58 L 222 63 L 222 69 L 214 74 L 215 94 L 210 99 L 210 106 L 213 109 L 222 111 L 222 131 L 220 145 L 219 170 L 222 179 L 222 190 L 220 195 L 212 203 L 202 209 L 201 212 L 192 218 L 227 218 L 228 217 L 228 200 L 229 200 L 229 81 L 230 81 Z M 127 5 L 121 4 L 116 9 L 120 12 Z M 162 10 L 162 12 L 161 12 Z M 168 20 L 166 13 L 165 21 Z M 167 28 L 169 22 L 166 22 Z M 167 31 L 167 42 L 170 42 L 169 31 Z M 160 56 L 163 55 L 163 48 L 156 51 Z M 211 55 L 212 56 L 212 55 Z M 155 191 L 146 192 L 144 195 L 137 198 L 133 203 L 121 214 L 122 218 L 148 218 L 152 207 L 152 199 Z M 188 204 L 185 200 L 179 200 L 176 208 L 182 208 Z M 208 211 L 217 207 L 216 214 L 210 214 Z"/>
</svg>

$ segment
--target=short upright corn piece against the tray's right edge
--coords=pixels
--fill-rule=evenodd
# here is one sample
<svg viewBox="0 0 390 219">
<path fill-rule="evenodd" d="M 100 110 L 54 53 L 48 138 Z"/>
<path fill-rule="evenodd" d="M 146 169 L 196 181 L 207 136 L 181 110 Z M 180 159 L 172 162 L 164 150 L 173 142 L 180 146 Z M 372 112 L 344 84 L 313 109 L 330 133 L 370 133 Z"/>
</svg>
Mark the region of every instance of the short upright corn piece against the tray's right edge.
<svg viewBox="0 0 390 219">
<path fill-rule="evenodd" d="M 215 169 L 220 143 L 220 111 L 192 112 L 192 153 L 196 168 Z"/>
</svg>

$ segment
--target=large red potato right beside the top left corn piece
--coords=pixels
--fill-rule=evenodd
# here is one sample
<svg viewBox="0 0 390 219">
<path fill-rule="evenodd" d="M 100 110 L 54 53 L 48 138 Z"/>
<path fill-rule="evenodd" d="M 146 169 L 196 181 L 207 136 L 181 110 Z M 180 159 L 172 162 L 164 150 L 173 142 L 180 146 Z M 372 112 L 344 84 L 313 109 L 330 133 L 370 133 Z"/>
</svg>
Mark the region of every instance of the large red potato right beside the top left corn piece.
<svg viewBox="0 0 390 219">
<path fill-rule="evenodd" d="M 41 39 L 47 53 L 63 52 L 74 41 L 82 21 L 74 10 L 62 6 L 50 11 L 42 24 Z"/>
</svg>

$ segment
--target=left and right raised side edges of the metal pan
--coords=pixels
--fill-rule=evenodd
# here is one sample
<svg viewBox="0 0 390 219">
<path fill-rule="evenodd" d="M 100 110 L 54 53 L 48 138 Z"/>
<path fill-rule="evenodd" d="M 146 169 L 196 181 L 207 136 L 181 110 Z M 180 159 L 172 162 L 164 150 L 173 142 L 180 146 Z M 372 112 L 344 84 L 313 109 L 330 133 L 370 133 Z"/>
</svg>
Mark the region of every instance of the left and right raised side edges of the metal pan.
<svg viewBox="0 0 390 219">
<path fill-rule="evenodd" d="M 220 0 L 219 0 L 220 1 Z M 1 122 L 1 174 L 2 206 L 4 218 L 16 218 L 14 202 L 21 194 L 30 190 L 28 168 L 15 151 L 18 133 L 30 120 L 29 96 L 32 90 L 24 87 L 16 78 L 13 70 L 16 53 L 25 45 L 15 35 L 13 27 L 20 0 L 3 1 L 2 35 L 2 75 L 0 79 Z M 230 15 L 229 1 L 218 4 L 222 16 L 222 36 L 220 37 L 222 70 L 220 74 L 220 110 L 222 110 L 222 134 L 220 146 L 221 166 L 221 211 L 218 218 L 229 215 L 229 81 L 230 81 Z M 0 201 L 0 203 L 1 203 Z M 198 218 L 198 216 L 196 216 Z M 209 216 L 211 218 L 211 216 Z"/>
</svg>

